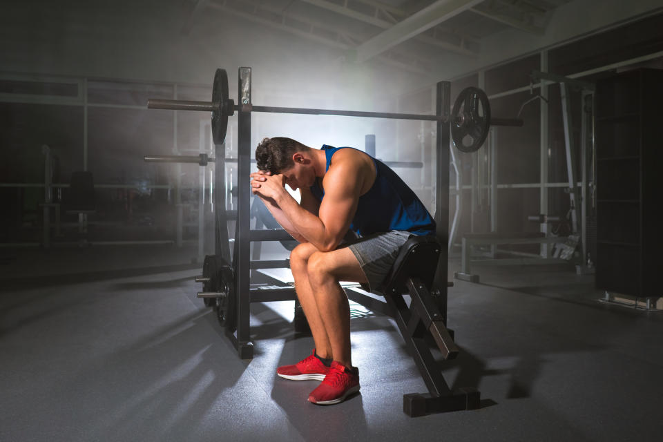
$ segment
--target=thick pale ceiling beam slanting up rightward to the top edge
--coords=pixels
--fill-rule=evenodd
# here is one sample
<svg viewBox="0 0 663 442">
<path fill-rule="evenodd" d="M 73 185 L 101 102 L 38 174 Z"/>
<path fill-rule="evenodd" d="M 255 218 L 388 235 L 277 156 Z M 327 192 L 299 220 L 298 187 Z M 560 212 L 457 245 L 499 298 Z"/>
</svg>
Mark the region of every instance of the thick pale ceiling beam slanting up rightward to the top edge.
<svg viewBox="0 0 663 442">
<path fill-rule="evenodd" d="M 355 59 L 356 61 L 372 59 L 385 50 L 477 6 L 481 1 L 483 0 L 437 0 L 358 46 Z"/>
</svg>

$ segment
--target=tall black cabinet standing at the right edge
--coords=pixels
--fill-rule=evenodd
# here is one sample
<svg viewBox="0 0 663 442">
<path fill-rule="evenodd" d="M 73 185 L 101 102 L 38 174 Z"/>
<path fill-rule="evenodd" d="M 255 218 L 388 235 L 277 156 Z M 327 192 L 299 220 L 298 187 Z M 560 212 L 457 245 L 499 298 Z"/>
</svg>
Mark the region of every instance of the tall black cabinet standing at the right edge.
<svg viewBox="0 0 663 442">
<path fill-rule="evenodd" d="M 596 286 L 661 296 L 663 285 L 663 70 L 597 82 Z"/>
</svg>

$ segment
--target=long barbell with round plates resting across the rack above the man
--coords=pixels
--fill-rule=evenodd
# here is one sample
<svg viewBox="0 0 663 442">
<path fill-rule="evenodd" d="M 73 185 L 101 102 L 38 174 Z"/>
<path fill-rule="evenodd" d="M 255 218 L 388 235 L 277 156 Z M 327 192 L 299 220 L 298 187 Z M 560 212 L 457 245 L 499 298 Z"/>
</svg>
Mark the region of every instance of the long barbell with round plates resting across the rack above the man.
<svg viewBox="0 0 663 442">
<path fill-rule="evenodd" d="M 463 152 L 479 150 L 488 136 L 490 126 L 522 126 L 523 120 L 491 118 L 488 96 L 479 88 L 465 88 L 454 102 L 450 116 L 412 113 L 387 113 L 367 111 L 341 111 L 338 109 L 286 108 L 276 106 L 253 106 L 250 103 L 235 104 L 228 97 L 228 75 L 225 69 L 218 68 L 214 75 L 211 102 L 196 102 L 177 99 L 148 99 L 150 109 L 171 111 L 199 111 L 212 114 L 212 137 L 214 144 L 223 144 L 226 139 L 228 117 L 235 111 L 293 113 L 304 115 L 340 115 L 345 117 L 369 117 L 391 119 L 415 119 L 419 121 L 451 122 L 451 135 L 454 145 Z"/>
</svg>

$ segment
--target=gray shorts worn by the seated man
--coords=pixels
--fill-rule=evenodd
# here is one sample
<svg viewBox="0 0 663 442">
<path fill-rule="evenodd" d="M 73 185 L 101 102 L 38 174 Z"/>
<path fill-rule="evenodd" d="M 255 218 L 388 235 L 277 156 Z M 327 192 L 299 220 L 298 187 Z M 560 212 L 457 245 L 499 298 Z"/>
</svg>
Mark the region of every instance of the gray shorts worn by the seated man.
<svg viewBox="0 0 663 442">
<path fill-rule="evenodd" d="M 366 291 L 383 291 L 383 281 L 389 273 L 398 252 L 414 233 L 392 230 L 357 238 L 347 244 L 364 271 L 368 284 L 362 284 Z"/>
</svg>

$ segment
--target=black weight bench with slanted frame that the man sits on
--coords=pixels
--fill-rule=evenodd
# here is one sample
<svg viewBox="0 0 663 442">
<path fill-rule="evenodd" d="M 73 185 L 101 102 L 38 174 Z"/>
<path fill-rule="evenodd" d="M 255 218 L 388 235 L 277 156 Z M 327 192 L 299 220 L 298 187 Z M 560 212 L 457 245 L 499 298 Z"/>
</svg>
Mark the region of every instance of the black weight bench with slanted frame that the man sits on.
<svg viewBox="0 0 663 442">
<path fill-rule="evenodd" d="M 396 320 L 407 352 L 414 359 L 428 388 L 427 394 L 403 395 L 403 412 L 412 417 L 479 408 L 480 393 L 474 388 L 452 391 L 430 351 L 432 338 L 445 360 L 455 358 L 459 352 L 445 326 L 445 315 L 431 294 L 441 248 L 434 236 L 415 236 L 403 244 L 385 278 L 384 293 L 381 295 L 385 297 L 386 309 L 378 306 L 385 302 L 366 295 L 359 296 L 352 289 L 346 290 L 348 298 Z M 410 305 L 405 302 L 403 294 L 410 294 Z"/>
</svg>

